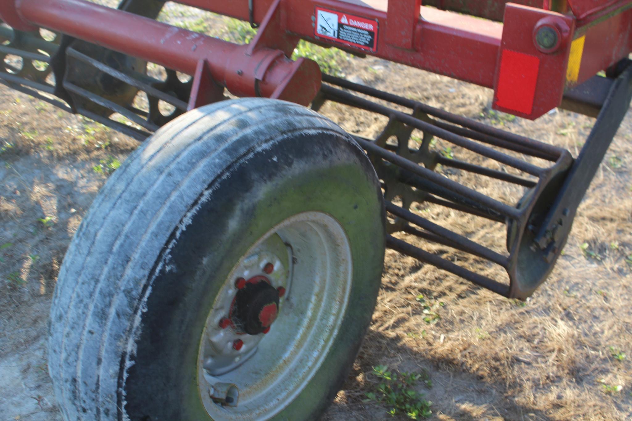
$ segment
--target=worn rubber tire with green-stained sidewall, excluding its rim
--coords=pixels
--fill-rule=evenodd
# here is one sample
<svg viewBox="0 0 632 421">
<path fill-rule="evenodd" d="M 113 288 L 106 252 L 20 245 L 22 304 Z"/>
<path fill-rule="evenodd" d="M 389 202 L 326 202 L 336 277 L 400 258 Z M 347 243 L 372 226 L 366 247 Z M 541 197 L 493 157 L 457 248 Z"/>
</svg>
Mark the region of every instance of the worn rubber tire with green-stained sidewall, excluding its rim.
<svg viewBox="0 0 632 421">
<path fill-rule="evenodd" d="M 275 418 L 319 417 L 370 323 L 384 203 L 370 162 L 342 129 L 305 107 L 254 98 L 162 127 L 95 199 L 51 309 L 49 371 L 64 417 L 209 419 L 191 362 L 217 284 L 265 230 L 310 210 L 344 228 L 353 283 L 324 362 Z"/>
</svg>

